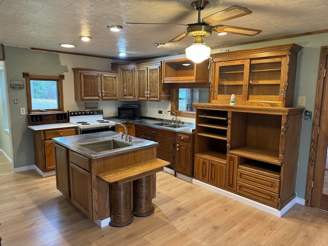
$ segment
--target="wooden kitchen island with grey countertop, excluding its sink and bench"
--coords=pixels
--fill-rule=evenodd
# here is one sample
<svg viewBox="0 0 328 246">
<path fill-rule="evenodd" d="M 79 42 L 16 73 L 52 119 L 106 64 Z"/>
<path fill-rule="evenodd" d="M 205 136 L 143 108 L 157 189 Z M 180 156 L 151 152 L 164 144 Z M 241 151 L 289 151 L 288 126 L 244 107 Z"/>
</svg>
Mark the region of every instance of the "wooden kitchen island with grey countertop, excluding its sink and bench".
<svg viewBox="0 0 328 246">
<path fill-rule="evenodd" d="M 112 140 L 116 149 L 107 147 Z M 157 142 L 137 137 L 126 143 L 121 141 L 120 133 L 113 131 L 56 137 L 53 141 L 57 189 L 100 227 L 107 226 L 111 217 L 110 186 L 97 175 L 156 159 L 158 146 Z M 151 183 L 152 199 L 156 196 L 155 173 Z"/>
</svg>

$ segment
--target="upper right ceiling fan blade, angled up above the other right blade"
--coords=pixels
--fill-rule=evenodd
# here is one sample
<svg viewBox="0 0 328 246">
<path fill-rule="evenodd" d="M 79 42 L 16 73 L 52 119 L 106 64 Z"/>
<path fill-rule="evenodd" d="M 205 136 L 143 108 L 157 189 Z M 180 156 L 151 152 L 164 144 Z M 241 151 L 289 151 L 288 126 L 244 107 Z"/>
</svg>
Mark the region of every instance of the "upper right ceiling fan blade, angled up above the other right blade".
<svg viewBox="0 0 328 246">
<path fill-rule="evenodd" d="M 230 8 L 223 9 L 215 14 L 204 17 L 202 22 L 208 23 L 210 25 L 216 25 L 218 23 L 225 22 L 226 20 L 234 19 L 251 13 L 252 11 L 248 8 L 234 5 Z"/>
</svg>

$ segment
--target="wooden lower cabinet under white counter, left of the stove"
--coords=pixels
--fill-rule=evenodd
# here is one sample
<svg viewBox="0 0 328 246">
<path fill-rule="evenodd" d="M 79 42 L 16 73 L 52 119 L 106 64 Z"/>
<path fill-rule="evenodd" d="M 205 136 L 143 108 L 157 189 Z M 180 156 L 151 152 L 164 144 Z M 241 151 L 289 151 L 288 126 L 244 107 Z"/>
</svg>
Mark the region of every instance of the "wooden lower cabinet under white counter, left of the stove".
<svg viewBox="0 0 328 246">
<path fill-rule="evenodd" d="M 60 128 L 33 131 L 34 161 L 42 172 L 55 169 L 53 137 L 64 137 L 76 134 L 76 128 Z"/>
</svg>

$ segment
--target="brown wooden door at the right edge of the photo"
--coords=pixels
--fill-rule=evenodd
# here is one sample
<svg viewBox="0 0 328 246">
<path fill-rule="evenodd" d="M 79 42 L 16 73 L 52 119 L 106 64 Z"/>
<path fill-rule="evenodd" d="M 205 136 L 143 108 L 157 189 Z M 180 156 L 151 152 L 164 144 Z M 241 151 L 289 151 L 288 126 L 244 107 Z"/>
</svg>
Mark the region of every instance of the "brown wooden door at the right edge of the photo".
<svg viewBox="0 0 328 246">
<path fill-rule="evenodd" d="M 328 69 L 327 63 L 325 68 Z M 328 211 L 328 86 L 326 77 L 323 78 L 323 82 L 311 206 Z"/>
</svg>

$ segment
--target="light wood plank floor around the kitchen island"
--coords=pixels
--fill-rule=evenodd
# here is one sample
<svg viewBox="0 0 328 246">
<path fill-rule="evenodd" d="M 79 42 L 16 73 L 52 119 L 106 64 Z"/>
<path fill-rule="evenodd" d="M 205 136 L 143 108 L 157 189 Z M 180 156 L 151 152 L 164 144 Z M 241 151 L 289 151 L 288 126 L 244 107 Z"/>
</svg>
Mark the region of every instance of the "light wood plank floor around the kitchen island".
<svg viewBox="0 0 328 246">
<path fill-rule="evenodd" d="M 328 213 L 296 204 L 282 218 L 164 172 L 155 212 L 99 228 L 35 170 L 0 176 L 2 245 L 328 245 Z"/>
</svg>

